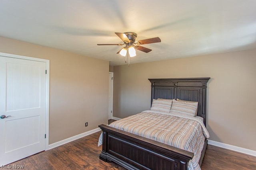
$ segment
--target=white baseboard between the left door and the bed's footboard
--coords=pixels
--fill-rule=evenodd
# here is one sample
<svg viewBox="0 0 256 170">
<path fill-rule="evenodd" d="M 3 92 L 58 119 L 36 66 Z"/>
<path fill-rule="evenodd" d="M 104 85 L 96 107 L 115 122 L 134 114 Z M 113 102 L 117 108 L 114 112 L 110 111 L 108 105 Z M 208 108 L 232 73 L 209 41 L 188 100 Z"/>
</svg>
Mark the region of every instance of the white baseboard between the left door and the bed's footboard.
<svg viewBox="0 0 256 170">
<path fill-rule="evenodd" d="M 48 147 L 48 149 L 53 149 L 53 148 L 59 147 L 60 145 L 64 145 L 64 144 L 69 143 L 69 142 L 72 142 L 72 141 L 74 141 L 74 140 L 76 140 L 76 139 L 80 139 L 81 137 L 85 137 L 85 136 L 91 135 L 92 133 L 96 133 L 96 132 L 98 132 L 98 131 L 101 131 L 101 129 L 100 129 L 99 127 L 96 128 L 96 129 L 92 129 L 92 130 L 90 130 L 90 131 L 88 131 L 88 132 L 84 132 L 84 133 L 81 133 L 81 134 L 79 134 L 79 135 L 70 137 L 70 138 L 68 138 L 68 139 L 64 139 L 64 140 L 62 140 L 62 141 L 58 141 L 58 142 L 56 142 L 56 143 L 50 144 L 49 147 Z"/>
</svg>

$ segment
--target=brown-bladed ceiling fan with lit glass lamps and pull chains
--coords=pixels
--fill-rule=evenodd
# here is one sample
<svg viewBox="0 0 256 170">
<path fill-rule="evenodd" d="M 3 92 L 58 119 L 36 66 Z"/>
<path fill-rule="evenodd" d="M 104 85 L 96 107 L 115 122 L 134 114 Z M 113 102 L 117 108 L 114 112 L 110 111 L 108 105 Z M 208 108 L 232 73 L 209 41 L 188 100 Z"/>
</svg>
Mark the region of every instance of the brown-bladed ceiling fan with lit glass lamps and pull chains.
<svg viewBox="0 0 256 170">
<path fill-rule="evenodd" d="M 133 32 L 125 32 L 125 33 L 115 33 L 122 41 L 124 41 L 123 44 L 97 44 L 97 45 L 124 45 L 122 49 L 120 49 L 117 54 L 120 54 L 124 57 L 127 57 L 129 59 L 129 65 L 130 65 L 130 57 L 136 56 L 136 51 L 140 50 L 145 53 L 148 53 L 152 51 L 152 49 L 148 49 L 146 47 L 142 47 L 140 45 L 143 44 L 151 44 L 151 43 L 159 43 L 161 42 L 161 39 L 159 37 L 154 37 L 154 38 L 149 38 L 149 39 L 143 39 L 143 40 L 138 40 L 136 41 L 137 34 Z M 126 61 L 125 61 L 126 63 Z"/>
</svg>

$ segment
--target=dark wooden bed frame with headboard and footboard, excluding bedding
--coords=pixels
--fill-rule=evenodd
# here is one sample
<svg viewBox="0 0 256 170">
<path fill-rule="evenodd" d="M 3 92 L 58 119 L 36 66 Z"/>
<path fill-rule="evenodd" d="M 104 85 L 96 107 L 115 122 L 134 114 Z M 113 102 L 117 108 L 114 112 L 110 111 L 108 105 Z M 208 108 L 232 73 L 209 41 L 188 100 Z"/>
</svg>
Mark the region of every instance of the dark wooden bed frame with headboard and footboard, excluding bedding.
<svg viewBox="0 0 256 170">
<path fill-rule="evenodd" d="M 180 99 L 198 102 L 198 116 L 206 125 L 207 82 L 210 78 L 157 78 L 151 82 L 151 104 L 153 99 Z M 171 169 L 187 170 L 194 153 L 140 137 L 107 125 L 99 125 L 103 131 L 100 159 L 116 162 L 127 169 Z M 201 153 L 201 166 L 207 139 Z M 138 156 L 131 156 L 133 153 Z"/>
</svg>

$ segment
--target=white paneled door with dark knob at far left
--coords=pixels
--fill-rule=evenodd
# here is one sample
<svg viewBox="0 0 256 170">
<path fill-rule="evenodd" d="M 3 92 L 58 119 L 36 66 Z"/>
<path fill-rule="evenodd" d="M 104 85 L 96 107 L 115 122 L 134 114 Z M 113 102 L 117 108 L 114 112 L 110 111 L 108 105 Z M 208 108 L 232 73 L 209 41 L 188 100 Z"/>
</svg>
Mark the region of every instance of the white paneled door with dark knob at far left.
<svg viewBox="0 0 256 170">
<path fill-rule="evenodd" d="M 0 56 L 0 165 L 45 150 L 46 63 Z"/>
</svg>

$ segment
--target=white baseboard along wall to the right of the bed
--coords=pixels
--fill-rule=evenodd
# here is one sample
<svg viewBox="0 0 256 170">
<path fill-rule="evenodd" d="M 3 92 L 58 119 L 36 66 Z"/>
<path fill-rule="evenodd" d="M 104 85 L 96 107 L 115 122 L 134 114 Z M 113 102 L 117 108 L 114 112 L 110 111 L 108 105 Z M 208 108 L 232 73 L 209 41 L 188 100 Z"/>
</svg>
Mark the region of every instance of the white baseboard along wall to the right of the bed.
<svg viewBox="0 0 256 170">
<path fill-rule="evenodd" d="M 225 143 L 220 143 L 220 142 L 211 141 L 211 140 L 208 140 L 208 144 L 209 145 L 214 145 L 216 147 L 221 147 L 221 148 L 224 148 L 224 149 L 234 150 L 236 152 L 241 152 L 241 153 L 244 153 L 244 154 L 249 154 L 249 155 L 252 155 L 252 156 L 256 156 L 256 151 L 255 150 L 236 147 L 236 146 L 233 146 L 233 145 L 228 145 L 228 144 L 225 144 Z"/>
</svg>

